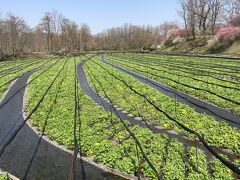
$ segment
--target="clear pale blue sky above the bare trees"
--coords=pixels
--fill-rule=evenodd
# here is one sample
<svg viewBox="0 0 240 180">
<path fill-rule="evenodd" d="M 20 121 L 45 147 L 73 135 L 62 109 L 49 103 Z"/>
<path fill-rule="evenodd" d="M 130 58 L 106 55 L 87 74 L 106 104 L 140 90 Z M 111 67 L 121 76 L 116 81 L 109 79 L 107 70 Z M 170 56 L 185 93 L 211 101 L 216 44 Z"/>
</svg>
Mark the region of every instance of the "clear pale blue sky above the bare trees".
<svg viewBox="0 0 240 180">
<path fill-rule="evenodd" d="M 87 23 L 93 34 L 124 23 L 159 25 L 179 20 L 177 0 L 0 0 L 0 13 L 23 17 L 30 26 L 44 12 L 56 10 L 76 23 Z"/>
</svg>

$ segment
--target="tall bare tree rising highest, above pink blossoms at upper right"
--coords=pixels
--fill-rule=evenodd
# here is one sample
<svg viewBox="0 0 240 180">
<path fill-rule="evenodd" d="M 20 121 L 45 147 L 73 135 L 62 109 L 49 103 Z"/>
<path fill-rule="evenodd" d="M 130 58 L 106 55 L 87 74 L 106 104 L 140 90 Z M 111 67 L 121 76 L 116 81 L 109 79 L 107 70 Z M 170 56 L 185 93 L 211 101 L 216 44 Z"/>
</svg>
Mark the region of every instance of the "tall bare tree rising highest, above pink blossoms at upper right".
<svg viewBox="0 0 240 180">
<path fill-rule="evenodd" d="M 215 34 L 224 6 L 225 0 L 179 0 L 178 14 L 193 37 L 197 32 L 205 37 Z"/>
</svg>

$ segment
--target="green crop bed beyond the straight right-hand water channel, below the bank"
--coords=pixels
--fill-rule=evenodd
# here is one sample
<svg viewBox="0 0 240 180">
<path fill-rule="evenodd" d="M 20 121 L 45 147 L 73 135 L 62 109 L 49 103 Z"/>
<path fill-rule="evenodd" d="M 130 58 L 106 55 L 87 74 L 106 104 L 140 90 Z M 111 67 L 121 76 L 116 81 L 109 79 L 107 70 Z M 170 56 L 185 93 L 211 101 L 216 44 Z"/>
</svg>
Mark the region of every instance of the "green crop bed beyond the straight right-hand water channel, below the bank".
<svg viewBox="0 0 240 180">
<path fill-rule="evenodd" d="M 145 54 L 107 56 L 124 67 L 209 103 L 240 114 L 240 62 Z"/>
</svg>

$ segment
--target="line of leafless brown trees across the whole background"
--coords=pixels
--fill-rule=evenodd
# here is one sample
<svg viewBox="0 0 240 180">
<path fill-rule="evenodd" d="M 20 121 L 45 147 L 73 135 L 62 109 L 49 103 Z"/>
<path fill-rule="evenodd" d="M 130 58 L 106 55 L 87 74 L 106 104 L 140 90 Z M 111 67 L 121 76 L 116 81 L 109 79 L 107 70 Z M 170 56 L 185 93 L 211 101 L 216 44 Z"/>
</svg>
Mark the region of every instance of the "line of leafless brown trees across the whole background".
<svg viewBox="0 0 240 180">
<path fill-rule="evenodd" d="M 33 28 L 23 18 L 9 14 L 0 18 L 0 54 L 140 50 L 167 43 L 172 35 L 194 39 L 214 36 L 233 20 L 240 25 L 240 0 L 178 0 L 178 4 L 182 25 L 177 22 L 164 22 L 155 27 L 124 24 L 96 35 L 91 34 L 87 24 L 79 25 L 56 11 L 46 12 Z"/>
</svg>

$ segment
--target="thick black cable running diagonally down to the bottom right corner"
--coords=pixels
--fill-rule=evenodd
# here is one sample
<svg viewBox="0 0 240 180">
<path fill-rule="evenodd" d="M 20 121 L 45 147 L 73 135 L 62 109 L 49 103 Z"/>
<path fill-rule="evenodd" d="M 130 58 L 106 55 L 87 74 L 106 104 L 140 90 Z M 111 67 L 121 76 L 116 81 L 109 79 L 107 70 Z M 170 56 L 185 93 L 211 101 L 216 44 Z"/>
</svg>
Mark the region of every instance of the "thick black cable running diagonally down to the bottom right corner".
<svg viewBox="0 0 240 180">
<path fill-rule="evenodd" d="M 94 62 L 94 61 L 92 61 Z M 126 87 L 128 87 L 129 89 L 131 89 L 134 93 L 138 94 L 139 96 L 141 96 L 142 98 L 144 98 L 149 104 L 151 104 L 157 111 L 163 113 L 169 120 L 175 122 L 179 127 L 181 127 L 182 129 L 184 129 L 185 131 L 195 135 L 198 137 L 198 139 L 203 143 L 203 145 L 218 159 L 220 160 L 225 166 L 227 166 L 229 169 L 231 169 L 233 172 L 240 174 L 240 169 L 233 163 L 231 163 L 230 161 L 226 160 L 225 158 L 223 158 L 222 156 L 220 156 L 212 147 L 210 147 L 207 142 L 204 140 L 204 137 L 199 134 L 198 132 L 186 127 L 184 124 L 180 123 L 179 121 L 177 121 L 176 119 L 174 119 L 173 117 L 171 117 L 168 113 L 166 113 L 164 110 L 160 109 L 159 107 L 157 107 L 153 102 L 151 102 L 144 94 L 139 93 L 138 91 L 136 91 L 135 89 L 133 89 L 131 86 L 129 86 L 124 80 L 120 79 L 119 77 L 115 76 L 114 74 L 110 73 L 106 68 L 104 68 L 102 65 L 100 65 L 97 62 L 94 62 L 95 64 L 99 65 L 102 69 L 104 69 L 108 74 L 110 74 L 111 76 L 113 76 L 115 79 L 121 81 L 122 83 L 124 83 L 124 85 Z"/>
</svg>

